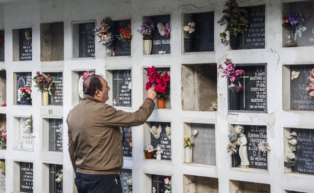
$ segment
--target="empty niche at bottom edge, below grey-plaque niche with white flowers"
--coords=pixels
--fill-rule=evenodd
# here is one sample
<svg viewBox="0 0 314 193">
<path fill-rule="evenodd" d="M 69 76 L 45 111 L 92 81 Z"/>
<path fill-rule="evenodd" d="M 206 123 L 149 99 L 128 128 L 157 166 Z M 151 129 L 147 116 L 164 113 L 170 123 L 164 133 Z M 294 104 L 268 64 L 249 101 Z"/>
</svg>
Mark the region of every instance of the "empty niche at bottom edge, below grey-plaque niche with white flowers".
<svg viewBox="0 0 314 193">
<path fill-rule="evenodd" d="M 183 175 L 183 193 L 218 193 L 218 178 Z"/>
</svg>

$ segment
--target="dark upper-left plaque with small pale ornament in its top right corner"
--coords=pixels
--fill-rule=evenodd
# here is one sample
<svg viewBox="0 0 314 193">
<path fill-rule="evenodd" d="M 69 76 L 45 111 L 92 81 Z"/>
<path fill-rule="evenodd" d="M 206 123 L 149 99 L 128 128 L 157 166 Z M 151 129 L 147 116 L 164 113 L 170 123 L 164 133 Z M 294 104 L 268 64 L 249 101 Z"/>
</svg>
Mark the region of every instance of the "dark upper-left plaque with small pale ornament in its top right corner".
<svg viewBox="0 0 314 193">
<path fill-rule="evenodd" d="M 32 28 L 19 29 L 20 60 L 32 60 Z"/>
</svg>

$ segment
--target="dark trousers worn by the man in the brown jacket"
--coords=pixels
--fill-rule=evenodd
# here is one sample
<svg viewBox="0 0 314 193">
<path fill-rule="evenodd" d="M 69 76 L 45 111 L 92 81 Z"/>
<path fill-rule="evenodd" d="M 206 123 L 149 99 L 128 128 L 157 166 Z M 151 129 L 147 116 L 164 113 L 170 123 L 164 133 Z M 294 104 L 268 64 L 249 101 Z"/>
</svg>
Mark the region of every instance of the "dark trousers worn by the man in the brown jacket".
<svg viewBox="0 0 314 193">
<path fill-rule="evenodd" d="M 118 175 L 76 173 L 75 185 L 78 193 L 122 193 Z"/>
</svg>

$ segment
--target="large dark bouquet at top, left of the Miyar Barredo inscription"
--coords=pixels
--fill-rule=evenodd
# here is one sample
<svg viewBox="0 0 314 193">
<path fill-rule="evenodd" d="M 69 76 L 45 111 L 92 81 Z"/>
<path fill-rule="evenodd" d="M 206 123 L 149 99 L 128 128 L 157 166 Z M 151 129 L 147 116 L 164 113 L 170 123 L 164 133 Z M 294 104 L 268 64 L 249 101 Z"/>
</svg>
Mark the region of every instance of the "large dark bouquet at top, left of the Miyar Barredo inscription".
<svg viewBox="0 0 314 193">
<path fill-rule="evenodd" d="M 229 31 L 230 34 L 233 33 L 234 36 L 237 36 L 239 33 L 243 34 L 247 31 L 248 19 L 246 10 L 239 8 L 236 0 L 228 0 L 225 5 L 228 8 L 222 11 L 224 15 L 220 18 L 218 24 L 226 26 L 224 32 L 220 33 L 219 36 L 221 43 L 228 44 L 229 41 L 226 40 L 226 32 Z"/>
</svg>

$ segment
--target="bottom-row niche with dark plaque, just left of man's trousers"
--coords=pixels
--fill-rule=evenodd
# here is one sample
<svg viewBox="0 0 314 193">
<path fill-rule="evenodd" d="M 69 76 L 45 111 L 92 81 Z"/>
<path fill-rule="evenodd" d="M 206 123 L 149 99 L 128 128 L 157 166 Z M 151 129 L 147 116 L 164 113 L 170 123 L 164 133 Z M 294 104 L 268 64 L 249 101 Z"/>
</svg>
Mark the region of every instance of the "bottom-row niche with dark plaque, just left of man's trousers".
<svg viewBox="0 0 314 193">
<path fill-rule="evenodd" d="M 44 163 L 42 167 L 42 192 L 62 193 L 63 184 L 58 177 L 63 176 L 63 166 Z"/>
</svg>

